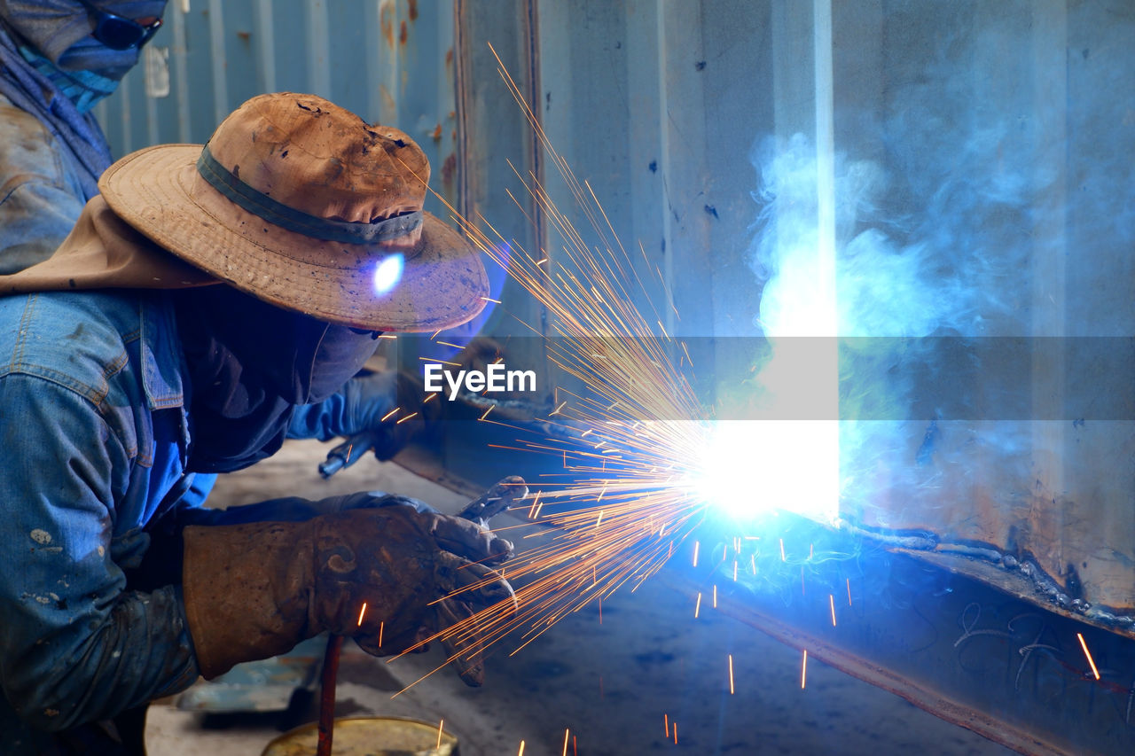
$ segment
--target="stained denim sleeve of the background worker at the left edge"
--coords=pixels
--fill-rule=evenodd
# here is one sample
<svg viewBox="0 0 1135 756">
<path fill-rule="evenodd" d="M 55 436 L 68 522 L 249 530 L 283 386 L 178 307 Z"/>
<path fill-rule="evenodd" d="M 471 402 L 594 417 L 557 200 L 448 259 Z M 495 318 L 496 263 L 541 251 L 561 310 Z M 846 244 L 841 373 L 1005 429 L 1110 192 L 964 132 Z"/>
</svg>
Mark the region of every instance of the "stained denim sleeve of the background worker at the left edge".
<svg viewBox="0 0 1135 756">
<path fill-rule="evenodd" d="M 68 152 L 34 116 L 0 95 L 0 274 L 45 260 L 90 199 Z"/>
</svg>

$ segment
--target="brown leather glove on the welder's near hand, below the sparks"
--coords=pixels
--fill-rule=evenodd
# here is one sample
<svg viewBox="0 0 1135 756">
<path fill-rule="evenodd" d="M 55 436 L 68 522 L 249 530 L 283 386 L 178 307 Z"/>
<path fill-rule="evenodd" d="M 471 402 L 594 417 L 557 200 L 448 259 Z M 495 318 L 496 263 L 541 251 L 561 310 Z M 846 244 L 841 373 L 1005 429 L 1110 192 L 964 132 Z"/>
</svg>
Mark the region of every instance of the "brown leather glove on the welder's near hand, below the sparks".
<svg viewBox="0 0 1135 756">
<path fill-rule="evenodd" d="M 515 608 L 512 587 L 489 566 L 506 560 L 512 544 L 468 520 L 411 506 L 194 526 L 184 543 L 185 614 L 207 679 L 323 631 L 381 656 L 488 606 Z M 480 645 L 476 636 L 460 644 L 447 650 L 457 654 L 462 679 L 480 684 Z"/>
</svg>

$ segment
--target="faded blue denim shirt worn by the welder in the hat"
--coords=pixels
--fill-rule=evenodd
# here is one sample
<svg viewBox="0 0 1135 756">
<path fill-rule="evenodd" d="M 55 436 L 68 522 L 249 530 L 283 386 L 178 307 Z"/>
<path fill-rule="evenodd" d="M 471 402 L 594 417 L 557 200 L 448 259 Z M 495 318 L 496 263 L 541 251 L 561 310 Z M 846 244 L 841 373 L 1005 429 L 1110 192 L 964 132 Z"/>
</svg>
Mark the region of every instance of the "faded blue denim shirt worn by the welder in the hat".
<svg viewBox="0 0 1135 756">
<path fill-rule="evenodd" d="M 163 292 L 0 297 L 5 754 L 43 753 L 42 731 L 110 719 L 199 674 L 180 587 L 129 590 L 124 573 L 149 523 L 222 522 L 202 506 L 213 476 L 185 469 L 185 375 Z M 296 408 L 288 435 L 326 439 L 343 417 L 342 395 Z"/>
</svg>

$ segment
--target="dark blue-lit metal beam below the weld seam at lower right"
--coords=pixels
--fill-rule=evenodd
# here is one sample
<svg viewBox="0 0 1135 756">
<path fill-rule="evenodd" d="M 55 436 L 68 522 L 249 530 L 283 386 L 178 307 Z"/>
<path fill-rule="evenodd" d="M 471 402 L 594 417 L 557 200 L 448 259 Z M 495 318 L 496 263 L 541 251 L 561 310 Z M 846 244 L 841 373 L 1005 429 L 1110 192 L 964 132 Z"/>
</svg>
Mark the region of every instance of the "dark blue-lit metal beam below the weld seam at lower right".
<svg viewBox="0 0 1135 756">
<path fill-rule="evenodd" d="M 701 534 L 695 569 L 661 574 L 690 596 L 848 674 L 1023 754 L 1135 749 L 1135 639 L 991 588 L 922 555 L 892 553 L 806 521 L 743 558 Z M 689 549 L 687 549 L 689 551 Z M 688 554 L 687 554 L 688 556 Z M 754 574 L 754 572 L 756 574 Z M 1086 657 L 1079 636 L 1092 654 Z M 1100 673 L 1096 679 L 1093 666 Z"/>
</svg>

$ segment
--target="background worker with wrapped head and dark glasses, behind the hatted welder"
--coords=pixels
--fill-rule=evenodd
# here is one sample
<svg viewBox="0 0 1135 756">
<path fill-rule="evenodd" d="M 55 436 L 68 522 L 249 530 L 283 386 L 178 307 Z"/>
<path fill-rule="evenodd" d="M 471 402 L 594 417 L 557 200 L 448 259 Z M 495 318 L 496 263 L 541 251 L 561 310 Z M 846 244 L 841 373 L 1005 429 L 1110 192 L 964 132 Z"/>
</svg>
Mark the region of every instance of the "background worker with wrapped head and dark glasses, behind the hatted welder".
<svg viewBox="0 0 1135 756">
<path fill-rule="evenodd" d="M 0 0 L 0 274 L 47 259 L 98 193 L 91 109 L 161 26 L 165 0 Z"/>
</svg>

